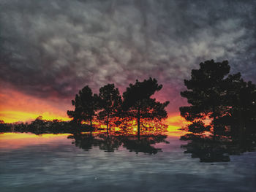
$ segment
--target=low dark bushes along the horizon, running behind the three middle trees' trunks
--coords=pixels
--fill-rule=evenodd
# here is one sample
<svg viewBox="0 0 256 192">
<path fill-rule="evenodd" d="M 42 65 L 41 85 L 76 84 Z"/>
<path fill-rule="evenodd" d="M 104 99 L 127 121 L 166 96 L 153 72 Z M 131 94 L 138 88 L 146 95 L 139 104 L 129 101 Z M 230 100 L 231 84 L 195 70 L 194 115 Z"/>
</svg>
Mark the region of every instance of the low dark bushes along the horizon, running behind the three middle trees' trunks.
<svg viewBox="0 0 256 192">
<path fill-rule="evenodd" d="M 167 125 L 161 122 L 146 122 L 144 121 L 141 131 L 143 134 L 163 134 L 167 131 Z M 111 131 L 111 135 L 126 135 L 131 136 L 135 134 L 135 122 L 125 121 L 118 124 L 116 130 Z M 0 120 L 0 134 L 8 132 L 18 132 L 18 133 L 33 133 L 33 134 L 79 134 L 81 132 L 91 132 L 94 131 L 95 134 L 104 133 L 105 126 L 102 127 L 100 122 L 91 127 L 90 124 L 82 123 L 78 125 L 73 121 L 62 121 L 62 120 L 44 120 L 42 116 L 37 117 L 30 123 L 16 122 L 16 123 L 4 123 L 4 120 Z M 108 134 L 108 133 L 107 133 Z"/>
</svg>

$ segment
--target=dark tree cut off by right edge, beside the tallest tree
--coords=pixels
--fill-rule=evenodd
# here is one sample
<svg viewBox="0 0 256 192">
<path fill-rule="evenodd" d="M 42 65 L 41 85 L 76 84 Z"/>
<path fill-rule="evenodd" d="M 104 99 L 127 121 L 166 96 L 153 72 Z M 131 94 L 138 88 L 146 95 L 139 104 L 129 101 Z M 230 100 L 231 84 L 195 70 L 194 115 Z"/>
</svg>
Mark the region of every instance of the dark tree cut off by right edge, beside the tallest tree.
<svg viewBox="0 0 256 192">
<path fill-rule="evenodd" d="M 241 74 L 230 74 L 226 79 L 228 113 L 220 123 L 231 126 L 233 136 L 244 131 L 256 131 L 256 85 L 245 82 Z M 252 128 L 254 127 L 254 128 Z"/>
</svg>

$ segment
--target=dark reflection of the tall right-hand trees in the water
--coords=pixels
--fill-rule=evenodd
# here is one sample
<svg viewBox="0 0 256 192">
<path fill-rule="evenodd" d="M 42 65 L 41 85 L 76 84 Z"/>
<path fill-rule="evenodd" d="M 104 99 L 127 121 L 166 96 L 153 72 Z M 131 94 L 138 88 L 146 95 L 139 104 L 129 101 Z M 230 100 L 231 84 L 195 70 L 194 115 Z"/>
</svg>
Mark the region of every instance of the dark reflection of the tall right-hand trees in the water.
<svg viewBox="0 0 256 192">
<path fill-rule="evenodd" d="M 232 137 L 212 137 L 196 136 L 186 134 L 181 140 L 189 140 L 186 145 L 181 145 L 186 149 L 184 153 L 191 153 L 192 158 L 200 158 L 201 162 L 227 162 L 230 155 L 241 155 L 244 152 L 256 150 L 255 138 L 243 137 L 234 139 Z"/>
</svg>

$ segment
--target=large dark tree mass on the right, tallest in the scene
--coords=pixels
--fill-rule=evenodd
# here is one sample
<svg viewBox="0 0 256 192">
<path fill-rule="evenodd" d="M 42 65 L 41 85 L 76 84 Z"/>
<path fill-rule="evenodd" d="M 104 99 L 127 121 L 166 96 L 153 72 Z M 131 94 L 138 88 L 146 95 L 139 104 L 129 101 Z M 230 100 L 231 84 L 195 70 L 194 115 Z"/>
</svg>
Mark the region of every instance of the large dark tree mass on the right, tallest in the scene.
<svg viewBox="0 0 256 192">
<path fill-rule="evenodd" d="M 187 98 L 190 106 L 180 107 L 180 112 L 194 122 L 190 131 L 203 131 L 203 123 L 197 120 L 206 118 L 211 119 L 214 135 L 224 134 L 226 126 L 231 126 L 233 134 L 241 134 L 241 129 L 249 130 L 255 125 L 256 86 L 245 82 L 240 73 L 229 72 L 227 61 L 205 61 L 200 63 L 200 69 L 192 70 L 190 80 L 184 80 L 187 91 L 181 91 L 181 96 Z"/>
</svg>

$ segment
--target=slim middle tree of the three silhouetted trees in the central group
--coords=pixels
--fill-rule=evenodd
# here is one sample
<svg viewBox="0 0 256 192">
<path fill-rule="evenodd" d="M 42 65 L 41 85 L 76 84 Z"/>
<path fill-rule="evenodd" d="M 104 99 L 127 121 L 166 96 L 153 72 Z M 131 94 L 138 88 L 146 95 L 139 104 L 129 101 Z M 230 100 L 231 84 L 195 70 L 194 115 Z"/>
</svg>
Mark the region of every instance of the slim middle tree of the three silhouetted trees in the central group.
<svg viewBox="0 0 256 192">
<path fill-rule="evenodd" d="M 114 84 L 108 84 L 99 88 L 99 120 L 105 120 L 107 124 L 107 133 L 110 118 L 116 117 L 121 107 L 121 96 L 118 88 Z"/>
</svg>

